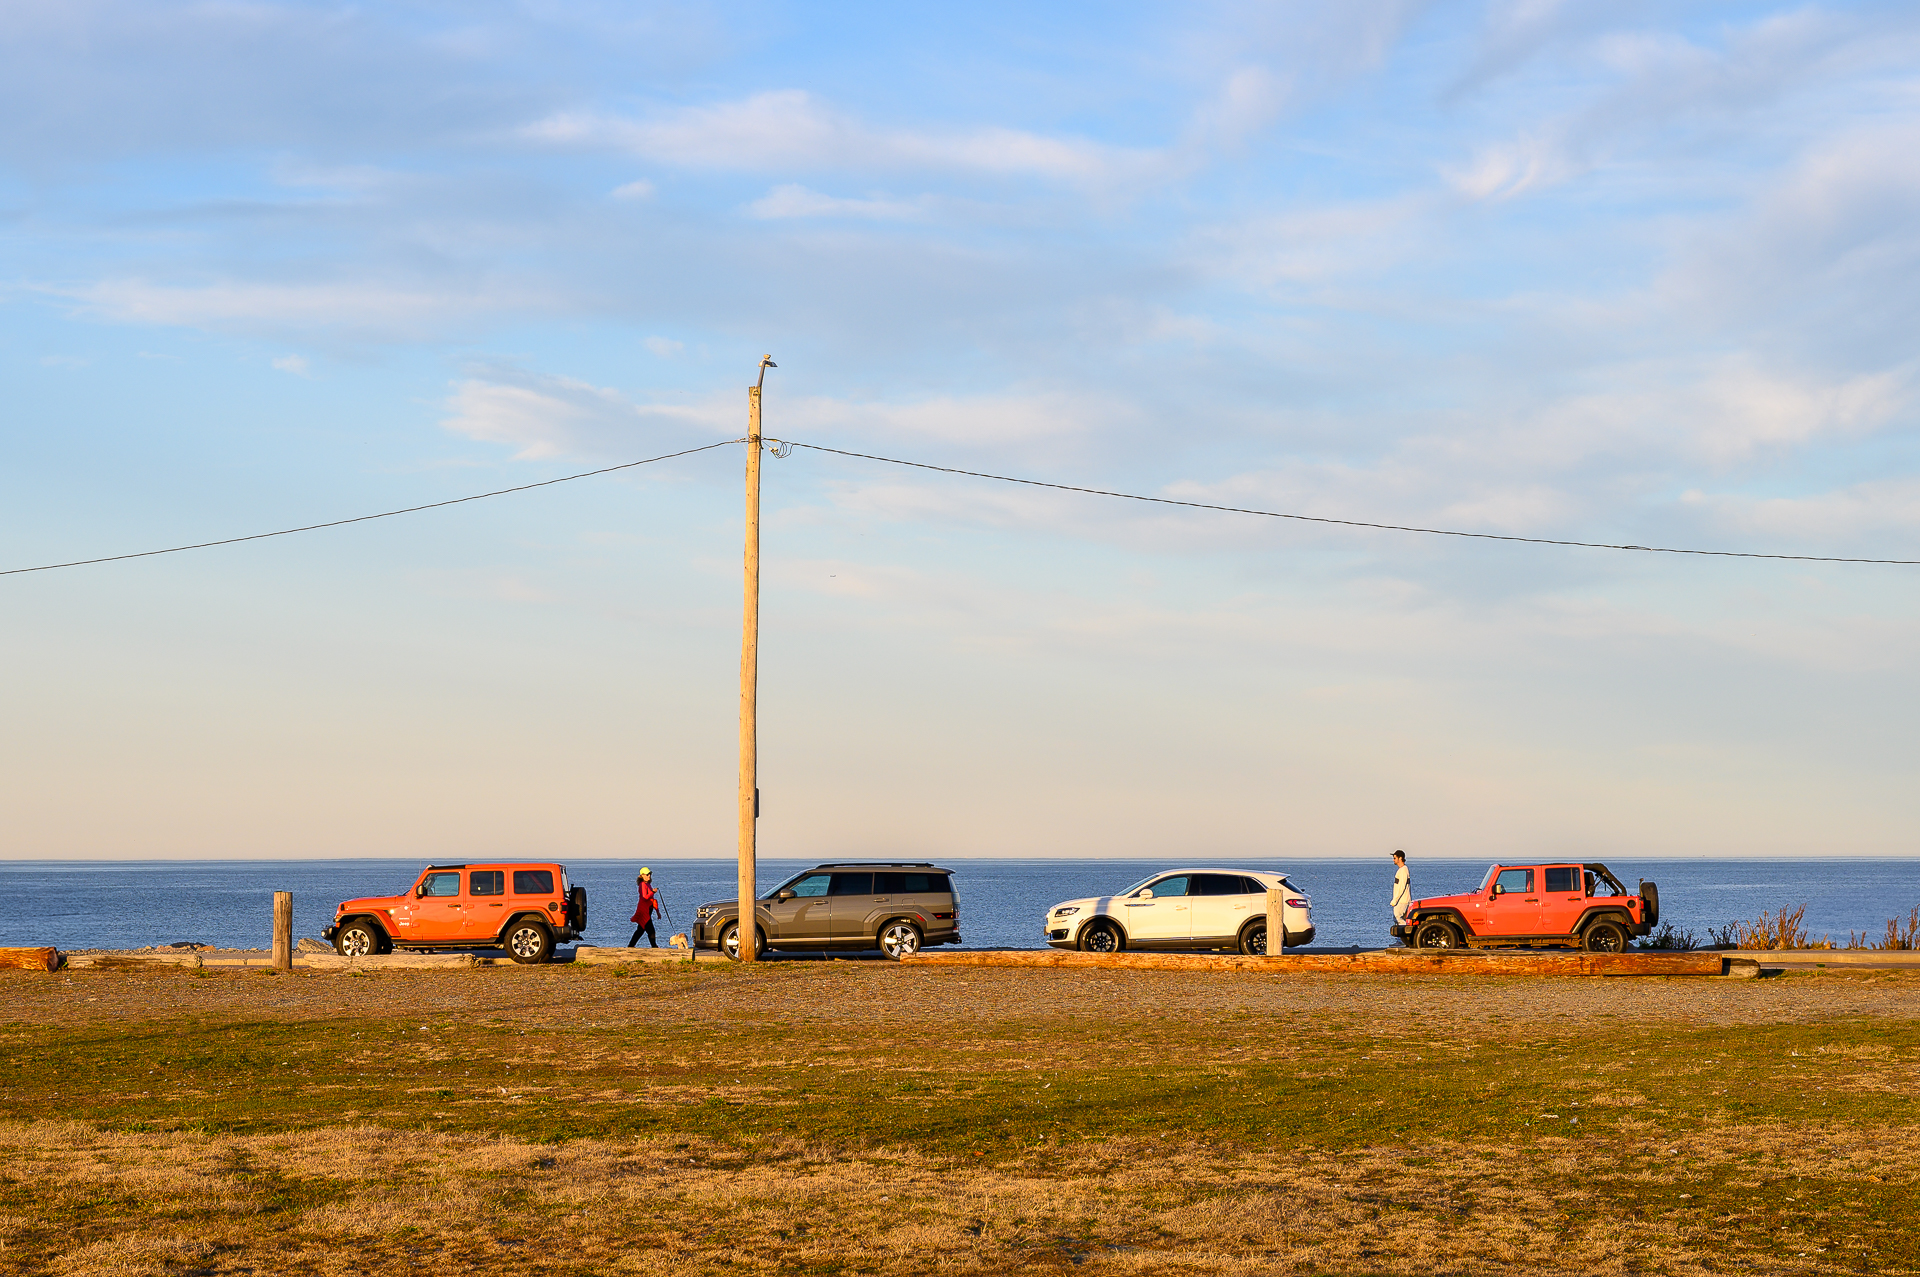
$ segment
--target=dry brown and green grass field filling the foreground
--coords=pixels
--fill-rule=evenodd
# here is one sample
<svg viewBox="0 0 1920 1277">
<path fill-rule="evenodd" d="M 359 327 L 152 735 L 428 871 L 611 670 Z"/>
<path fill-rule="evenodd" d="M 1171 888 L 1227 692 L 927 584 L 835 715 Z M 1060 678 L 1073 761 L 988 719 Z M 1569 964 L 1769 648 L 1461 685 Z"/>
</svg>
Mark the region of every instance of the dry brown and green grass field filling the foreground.
<svg viewBox="0 0 1920 1277">
<path fill-rule="evenodd" d="M 1920 1269 L 1920 979 L 0 974 L 0 1273 Z"/>
</svg>

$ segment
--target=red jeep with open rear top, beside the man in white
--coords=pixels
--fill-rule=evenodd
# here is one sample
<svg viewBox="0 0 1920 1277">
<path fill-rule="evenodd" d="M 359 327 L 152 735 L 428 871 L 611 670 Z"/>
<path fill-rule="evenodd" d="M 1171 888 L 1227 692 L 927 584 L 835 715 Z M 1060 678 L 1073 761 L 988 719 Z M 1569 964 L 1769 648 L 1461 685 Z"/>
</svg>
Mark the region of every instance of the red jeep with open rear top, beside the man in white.
<svg viewBox="0 0 1920 1277">
<path fill-rule="evenodd" d="M 1496 864 L 1467 895 L 1413 901 L 1394 935 L 1415 949 L 1578 945 L 1624 952 L 1661 920 L 1659 887 L 1628 893 L 1605 864 Z"/>
</svg>

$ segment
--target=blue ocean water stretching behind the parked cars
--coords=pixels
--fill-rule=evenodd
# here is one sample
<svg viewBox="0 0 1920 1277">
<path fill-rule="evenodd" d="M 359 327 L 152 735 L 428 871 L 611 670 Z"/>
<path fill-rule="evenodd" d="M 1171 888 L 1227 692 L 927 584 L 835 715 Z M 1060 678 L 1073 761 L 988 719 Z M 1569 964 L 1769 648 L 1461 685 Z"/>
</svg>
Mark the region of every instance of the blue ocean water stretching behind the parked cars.
<svg viewBox="0 0 1920 1277">
<path fill-rule="evenodd" d="M 340 901 L 405 891 L 422 860 L 127 860 L 0 862 L 0 945 L 136 949 L 200 941 L 265 949 L 273 893 L 294 893 L 294 935 L 319 935 Z M 653 881 L 682 929 L 703 901 L 732 899 L 733 860 L 651 860 Z M 814 860 L 760 860 L 760 889 Z M 1044 910 L 1066 899 L 1117 891 L 1173 862 L 1148 860 L 945 860 L 960 895 L 968 949 L 1041 949 Z M 1392 864 L 1367 860 L 1210 860 L 1221 868 L 1286 872 L 1313 901 L 1319 945 L 1390 943 Z M 1415 897 L 1471 891 L 1486 860 L 1415 860 Z M 1884 933 L 1887 918 L 1920 904 L 1920 860 L 1609 860 L 1632 887 L 1661 889 L 1661 920 L 1692 928 L 1807 906 L 1814 935 Z M 574 860 L 568 876 L 588 889 L 588 943 L 624 945 L 634 912 L 637 860 Z"/>
</svg>

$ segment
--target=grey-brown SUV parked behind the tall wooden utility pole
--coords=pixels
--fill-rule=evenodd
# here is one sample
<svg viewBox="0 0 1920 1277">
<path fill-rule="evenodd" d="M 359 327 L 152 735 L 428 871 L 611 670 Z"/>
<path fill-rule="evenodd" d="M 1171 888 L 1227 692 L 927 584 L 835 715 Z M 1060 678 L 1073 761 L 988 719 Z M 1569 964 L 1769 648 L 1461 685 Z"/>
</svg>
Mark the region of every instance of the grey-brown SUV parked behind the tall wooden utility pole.
<svg viewBox="0 0 1920 1277">
<path fill-rule="evenodd" d="M 755 954 L 768 949 L 862 951 L 904 958 L 960 943 L 952 874 L 925 860 L 816 864 L 755 901 Z M 739 956 L 735 901 L 701 904 L 695 949 Z"/>
</svg>

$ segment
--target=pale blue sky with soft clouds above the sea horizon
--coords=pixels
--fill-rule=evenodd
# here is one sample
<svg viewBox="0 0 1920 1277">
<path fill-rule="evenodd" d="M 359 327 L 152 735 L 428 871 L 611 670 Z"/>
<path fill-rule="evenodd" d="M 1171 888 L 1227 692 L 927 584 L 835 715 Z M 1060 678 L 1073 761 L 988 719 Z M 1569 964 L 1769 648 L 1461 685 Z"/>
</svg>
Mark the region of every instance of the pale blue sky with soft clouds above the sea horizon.
<svg viewBox="0 0 1920 1277">
<path fill-rule="evenodd" d="M 745 430 L 1920 559 L 1920 10 L 0 0 L 0 568 Z M 0 856 L 730 855 L 743 446 L 0 576 Z M 1920 566 L 766 461 L 768 856 L 1914 855 Z"/>
</svg>

